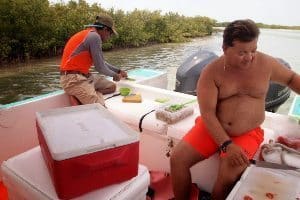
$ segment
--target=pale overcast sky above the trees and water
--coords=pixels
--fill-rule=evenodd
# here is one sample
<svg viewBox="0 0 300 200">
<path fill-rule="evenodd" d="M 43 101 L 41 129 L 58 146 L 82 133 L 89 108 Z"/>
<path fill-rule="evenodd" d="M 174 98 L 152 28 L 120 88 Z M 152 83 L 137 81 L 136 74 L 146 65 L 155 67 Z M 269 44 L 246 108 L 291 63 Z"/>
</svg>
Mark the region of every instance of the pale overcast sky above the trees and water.
<svg viewBox="0 0 300 200">
<path fill-rule="evenodd" d="M 68 0 L 50 0 L 50 2 Z M 160 10 L 184 16 L 206 16 L 218 22 L 252 19 L 264 24 L 300 26 L 300 0 L 85 0 L 105 9 Z"/>
</svg>

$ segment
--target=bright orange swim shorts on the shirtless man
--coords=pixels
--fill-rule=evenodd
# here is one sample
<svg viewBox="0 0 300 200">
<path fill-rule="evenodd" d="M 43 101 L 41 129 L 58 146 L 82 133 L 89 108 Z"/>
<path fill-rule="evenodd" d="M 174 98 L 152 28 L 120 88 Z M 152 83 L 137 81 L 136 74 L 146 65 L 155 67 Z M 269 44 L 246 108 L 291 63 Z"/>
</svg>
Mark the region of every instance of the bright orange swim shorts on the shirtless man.
<svg viewBox="0 0 300 200">
<path fill-rule="evenodd" d="M 195 126 L 183 137 L 183 140 L 192 145 L 205 158 L 216 153 L 219 148 L 200 116 L 197 117 Z M 247 157 L 250 159 L 253 158 L 260 144 L 263 142 L 264 131 L 260 127 L 257 127 L 240 136 L 231 137 L 231 140 L 244 149 Z"/>
</svg>

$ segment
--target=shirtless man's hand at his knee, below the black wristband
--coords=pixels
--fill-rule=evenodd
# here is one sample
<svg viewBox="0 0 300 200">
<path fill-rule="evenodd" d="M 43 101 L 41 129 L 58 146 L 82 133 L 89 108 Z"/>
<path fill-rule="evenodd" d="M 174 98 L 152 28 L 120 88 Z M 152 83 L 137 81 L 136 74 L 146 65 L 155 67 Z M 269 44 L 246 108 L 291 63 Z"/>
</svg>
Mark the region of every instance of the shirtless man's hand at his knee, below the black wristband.
<svg viewBox="0 0 300 200">
<path fill-rule="evenodd" d="M 231 143 L 226 148 L 226 156 L 232 166 L 249 165 L 249 160 L 241 147 Z"/>
</svg>

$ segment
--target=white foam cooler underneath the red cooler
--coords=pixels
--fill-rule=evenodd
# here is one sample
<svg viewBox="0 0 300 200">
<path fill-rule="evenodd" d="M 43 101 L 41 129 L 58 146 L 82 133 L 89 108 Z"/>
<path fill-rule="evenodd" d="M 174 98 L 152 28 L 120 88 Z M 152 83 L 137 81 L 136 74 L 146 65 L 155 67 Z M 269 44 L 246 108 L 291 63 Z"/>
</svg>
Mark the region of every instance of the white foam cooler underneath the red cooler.
<svg viewBox="0 0 300 200">
<path fill-rule="evenodd" d="M 10 200 L 57 200 L 50 174 L 40 147 L 4 161 L 3 182 Z M 113 184 L 74 199 L 76 200 L 144 200 L 150 183 L 146 167 L 139 165 L 138 175 L 130 180 Z"/>
</svg>

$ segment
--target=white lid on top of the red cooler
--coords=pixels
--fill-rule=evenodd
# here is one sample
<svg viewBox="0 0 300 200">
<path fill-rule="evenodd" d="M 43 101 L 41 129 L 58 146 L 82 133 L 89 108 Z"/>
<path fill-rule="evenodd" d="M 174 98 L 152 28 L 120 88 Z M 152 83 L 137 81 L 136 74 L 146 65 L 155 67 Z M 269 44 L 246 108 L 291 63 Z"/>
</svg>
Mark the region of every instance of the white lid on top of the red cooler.
<svg viewBox="0 0 300 200">
<path fill-rule="evenodd" d="M 37 112 L 54 160 L 64 160 L 138 141 L 138 133 L 100 104 L 87 104 Z"/>
</svg>

